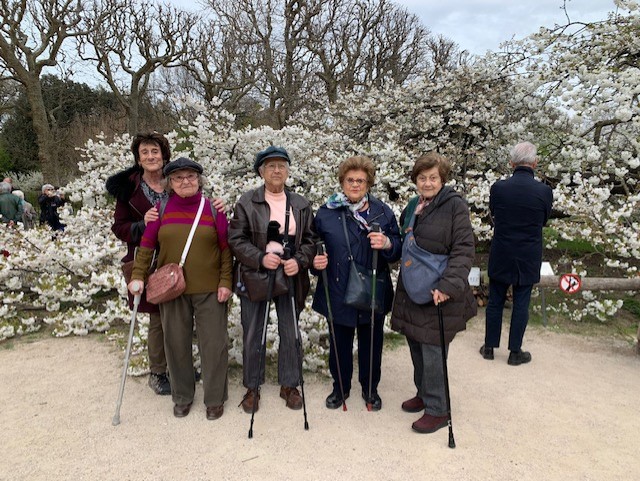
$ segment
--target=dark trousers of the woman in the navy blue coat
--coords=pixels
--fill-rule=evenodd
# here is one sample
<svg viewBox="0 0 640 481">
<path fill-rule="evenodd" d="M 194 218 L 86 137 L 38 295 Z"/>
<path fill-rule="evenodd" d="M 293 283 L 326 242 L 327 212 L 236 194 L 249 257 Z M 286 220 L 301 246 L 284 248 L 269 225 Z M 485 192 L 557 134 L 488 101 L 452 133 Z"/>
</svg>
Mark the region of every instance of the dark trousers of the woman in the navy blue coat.
<svg viewBox="0 0 640 481">
<path fill-rule="evenodd" d="M 340 374 L 344 392 L 351 391 L 351 376 L 353 375 L 353 337 L 358 331 L 358 380 L 362 390 L 369 393 L 369 356 L 371 352 L 371 324 L 360 324 L 358 327 L 343 326 L 334 322 L 338 358 L 340 360 Z M 382 364 L 382 343 L 384 338 L 383 321 L 374 323 L 373 327 L 373 372 L 372 392 L 377 392 L 380 383 L 380 366 Z M 333 390 L 340 392 L 338 382 L 338 366 L 333 340 L 330 339 L 329 370 L 333 377 Z"/>
</svg>

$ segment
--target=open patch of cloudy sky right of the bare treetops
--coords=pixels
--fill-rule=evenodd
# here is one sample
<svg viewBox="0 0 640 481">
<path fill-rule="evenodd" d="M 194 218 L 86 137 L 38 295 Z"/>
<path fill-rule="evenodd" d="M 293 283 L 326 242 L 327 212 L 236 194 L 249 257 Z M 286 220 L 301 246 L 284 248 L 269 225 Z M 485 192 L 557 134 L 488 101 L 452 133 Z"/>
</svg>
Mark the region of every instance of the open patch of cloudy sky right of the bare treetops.
<svg viewBox="0 0 640 481">
<path fill-rule="evenodd" d="M 505 40 L 523 38 L 539 27 L 566 23 L 562 0 L 395 0 L 422 19 L 431 32 L 455 41 L 463 50 L 484 54 Z M 568 0 L 572 21 L 604 20 L 613 0 Z"/>
</svg>

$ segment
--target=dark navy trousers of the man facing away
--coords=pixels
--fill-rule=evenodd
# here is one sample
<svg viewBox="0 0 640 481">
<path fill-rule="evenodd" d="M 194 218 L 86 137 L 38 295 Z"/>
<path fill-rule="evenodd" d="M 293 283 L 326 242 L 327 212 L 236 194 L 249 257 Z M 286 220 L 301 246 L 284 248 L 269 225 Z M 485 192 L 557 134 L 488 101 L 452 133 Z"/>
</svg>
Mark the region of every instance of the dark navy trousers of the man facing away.
<svg viewBox="0 0 640 481">
<path fill-rule="evenodd" d="M 495 279 L 489 280 L 489 302 L 486 310 L 486 331 L 484 344 L 486 347 L 500 347 L 502 330 L 502 311 L 507 298 L 509 284 Z M 519 351 L 522 338 L 529 322 L 529 301 L 533 285 L 512 286 L 513 310 L 511 311 L 511 327 L 509 329 L 509 350 Z"/>
</svg>

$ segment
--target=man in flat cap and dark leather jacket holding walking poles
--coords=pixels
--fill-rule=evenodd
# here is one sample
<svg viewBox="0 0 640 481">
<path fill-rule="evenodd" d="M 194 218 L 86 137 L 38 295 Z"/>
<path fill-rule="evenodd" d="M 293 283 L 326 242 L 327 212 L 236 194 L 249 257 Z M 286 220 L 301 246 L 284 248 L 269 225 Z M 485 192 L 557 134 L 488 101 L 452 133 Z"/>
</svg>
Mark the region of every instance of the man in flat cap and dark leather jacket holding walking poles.
<svg viewBox="0 0 640 481">
<path fill-rule="evenodd" d="M 315 255 L 317 238 L 313 232 L 311 205 L 304 197 L 288 191 L 285 187 L 290 165 L 289 154 L 282 147 L 271 146 L 258 152 L 254 170 L 262 177 L 264 185 L 245 192 L 238 199 L 229 229 L 229 244 L 240 264 L 239 280 L 242 279 L 242 272 L 245 270 L 275 271 L 282 266 L 289 282 L 294 282 L 297 313 L 293 312 L 288 294 L 274 298 L 280 335 L 278 382 L 280 397 L 285 400 L 286 406 L 290 409 L 301 409 L 302 397 L 298 391 L 300 369 L 295 331 L 298 326 L 295 319 L 304 309 L 304 299 L 309 292 L 308 268 Z M 287 224 L 287 204 L 290 204 L 290 215 L 286 247 L 291 250 L 291 256 L 283 258 L 279 252 L 284 252 L 285 247 L 282 242 L 285 237 L 284 226 Z M 277 240 L 274 239 L 271 243 L 268 236 L 270 224 L 276 226 L 277 237 Z M 266 288 L 265 285 L 265 291 Z M 259 385 L 258 382 L 264 383 L 265 364 L 262 362 L 261 372 L 258 372 L 258 353 L 265 356 L 261 351 L 261 343 L 267 301 L 253 302 L 241 294 L 240 303 L 244 344 L 243 384 L 247 388 L 241 404 L 245 412 L 251 413 L 254 401 L 255 409 L 259 408 L 260 393 L 256 386 Z"/>
</svg>

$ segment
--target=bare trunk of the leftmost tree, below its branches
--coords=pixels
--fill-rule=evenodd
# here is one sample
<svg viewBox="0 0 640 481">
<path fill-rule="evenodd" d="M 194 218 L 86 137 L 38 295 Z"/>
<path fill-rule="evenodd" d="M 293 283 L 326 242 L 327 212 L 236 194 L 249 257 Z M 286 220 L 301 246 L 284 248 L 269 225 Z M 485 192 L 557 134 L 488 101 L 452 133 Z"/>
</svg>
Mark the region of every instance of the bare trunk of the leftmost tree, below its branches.
<svg viewBox="0 0 640 481">
<path fill-rule="evenodd" d="M 45 183 L 58 186 L 60 185 L 60 162 L 56 143 L 51 133 L 51 127 L 49 126 L 47 110 L 44 106 L 40 79 L 37 78 L 25 84 L 25 90 L 29 105 L 31 106 L 33 129 L 36 133 L 38 160 L 40 161 L 42 178 Z"/>
</svg>

